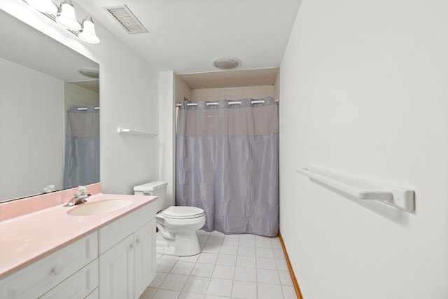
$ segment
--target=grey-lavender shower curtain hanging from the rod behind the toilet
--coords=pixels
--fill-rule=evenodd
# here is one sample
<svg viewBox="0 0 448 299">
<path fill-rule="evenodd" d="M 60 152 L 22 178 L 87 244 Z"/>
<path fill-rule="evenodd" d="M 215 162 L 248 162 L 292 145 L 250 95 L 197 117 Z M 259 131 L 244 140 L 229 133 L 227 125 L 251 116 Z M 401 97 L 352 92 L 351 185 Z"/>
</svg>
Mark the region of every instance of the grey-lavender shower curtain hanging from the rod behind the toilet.
<svg viewBox="0 0 448 299">
<path fill-rule="evenodd" d="M 279 111 L 272 97 L 264 100 L 179 107 L 176 204 L 204 209 L 204 230 L 279 230 Z"/>
</svg>

